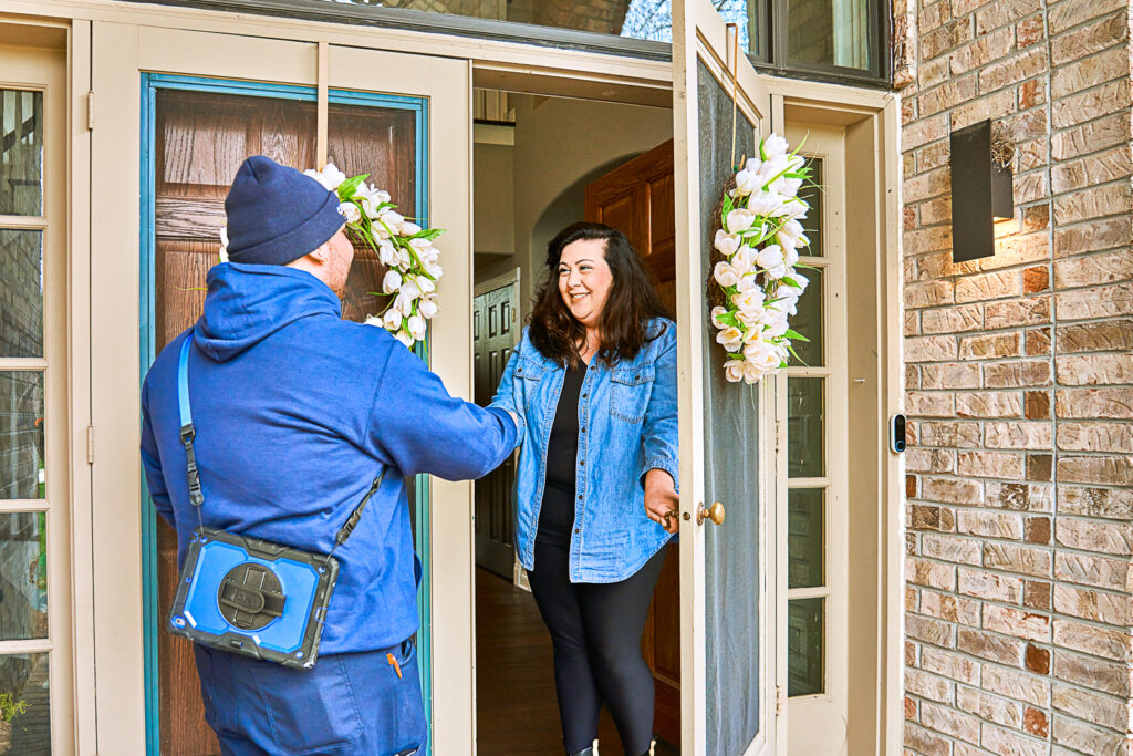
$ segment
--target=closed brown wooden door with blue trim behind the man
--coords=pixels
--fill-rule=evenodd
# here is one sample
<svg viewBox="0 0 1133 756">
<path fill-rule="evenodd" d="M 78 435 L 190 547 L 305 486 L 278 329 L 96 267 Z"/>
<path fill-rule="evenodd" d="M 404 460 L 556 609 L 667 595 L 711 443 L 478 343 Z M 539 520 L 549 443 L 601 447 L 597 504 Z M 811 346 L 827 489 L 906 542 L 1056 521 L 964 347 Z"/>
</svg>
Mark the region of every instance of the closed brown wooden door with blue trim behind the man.
<svg viewBox="0 0 1133 756">
<path fill-rule="evenodd" d="M 284 165 L 315 165 L 316 105 L 312 100 L 201 90 L 157 88 L 154 104 L 155 352 L 201 316 L 205 275 L 218 263 L 224 196 L 245 158 L 262 154 Z M 348 176 L 370 173 L 399 211 L 417 214 L 417 124 L 407 109 L 330 103 L 330 160 Z M 368 248 L 356 248 L 343 317 L 378 312 L 384 269 Z M 202 472 L 207 489 L 208 472 Z M 206 504 L 207 506 L 207 504 Z M 157 525 L 157 688 L 161 754 L 220 753 L 204 722 L 188 640 L 162 628 L 177 583 L 177 535 Z"/>
</svg>

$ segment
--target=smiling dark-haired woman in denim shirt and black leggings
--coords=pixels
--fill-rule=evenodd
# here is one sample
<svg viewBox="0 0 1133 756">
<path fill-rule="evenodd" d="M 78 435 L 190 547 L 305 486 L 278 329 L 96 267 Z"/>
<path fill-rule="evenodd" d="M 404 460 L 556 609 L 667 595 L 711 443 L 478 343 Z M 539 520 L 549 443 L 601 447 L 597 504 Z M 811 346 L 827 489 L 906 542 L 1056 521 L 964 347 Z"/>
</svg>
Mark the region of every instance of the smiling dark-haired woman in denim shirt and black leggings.
<svg viewBox="0 0 1133 756">
<path fill-rule="evenodd" d="M 493 406 L 518 416 L 516 547 L 554 644 L 568 754 L 602 703 L 627 754 L 651 753 L 641 634 L 676 532 L 676 329 L 629 239 L 574 223 Z"/>
</svg>

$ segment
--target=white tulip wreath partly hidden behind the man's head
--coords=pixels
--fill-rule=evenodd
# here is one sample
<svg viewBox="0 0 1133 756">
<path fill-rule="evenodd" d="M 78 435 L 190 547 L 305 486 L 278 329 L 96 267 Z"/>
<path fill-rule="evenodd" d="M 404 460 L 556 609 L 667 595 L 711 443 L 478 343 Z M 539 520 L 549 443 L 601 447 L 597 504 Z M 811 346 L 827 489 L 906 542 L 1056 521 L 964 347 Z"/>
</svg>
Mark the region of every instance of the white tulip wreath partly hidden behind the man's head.
<svg viewBox="0 0 1133 756">
<path fill-rule="evenodd" d="M 443 229 L 424 229 L 397 212 L 390 194 L 366 184 L 369 173 L 347 178 L 334 163 L 321 170 L 304 171 L 339 197 L 339 212 L 350 235 L 368 245 L 387 267 L 377 296 L 392 297 L 367 325 L 378 325 L 407 347 L 424 341 L 427 321 L 436 316 L 436 282 L 444 270 L 437 262 L 440 250 L 433 239 Z M 221 262 L 228 261 L 228 233 L 221 229 Z"/>
</svg>

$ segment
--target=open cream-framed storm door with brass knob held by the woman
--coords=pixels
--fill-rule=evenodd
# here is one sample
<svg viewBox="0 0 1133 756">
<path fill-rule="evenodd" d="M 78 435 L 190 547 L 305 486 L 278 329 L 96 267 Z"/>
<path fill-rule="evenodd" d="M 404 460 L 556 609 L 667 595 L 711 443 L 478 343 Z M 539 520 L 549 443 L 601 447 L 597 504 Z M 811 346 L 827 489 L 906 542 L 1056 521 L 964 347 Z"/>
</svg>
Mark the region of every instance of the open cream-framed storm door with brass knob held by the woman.
<svg viewBox="0 0 1133 756">
<path fill-rule="evenodd" d="M 774 452 L 770 382 L 724 380 L 705 288 L 733 164 L 770 130 L 770 96 L 735 36 L 708 0 L 673 2 L 676 311 L 687 324 L 678 352 L 682 753 L 696 756 L 773 754 L 778 740 L 775 509 L 764 474 Z M 718 525 L 704 516 L 717 502 L 726 511 Z"/>
</svg>

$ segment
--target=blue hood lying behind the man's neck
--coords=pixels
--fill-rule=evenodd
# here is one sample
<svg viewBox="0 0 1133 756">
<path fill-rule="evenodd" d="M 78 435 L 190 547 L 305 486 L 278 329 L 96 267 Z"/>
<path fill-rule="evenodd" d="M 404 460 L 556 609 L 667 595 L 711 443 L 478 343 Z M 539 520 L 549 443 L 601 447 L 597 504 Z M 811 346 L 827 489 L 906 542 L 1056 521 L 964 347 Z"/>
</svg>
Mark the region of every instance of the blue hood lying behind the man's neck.
<svg viewBox="0 0 1133 756">
<path fill-rule="evenodd" d="M 297 320 L 342 317 L 342 303 L 330 287 L 306 271 L 284 265 L 221 263 L 206 279 L 205 311 L 194 341 L 223 363 Z"/>
</svg>

